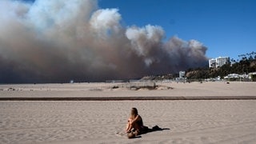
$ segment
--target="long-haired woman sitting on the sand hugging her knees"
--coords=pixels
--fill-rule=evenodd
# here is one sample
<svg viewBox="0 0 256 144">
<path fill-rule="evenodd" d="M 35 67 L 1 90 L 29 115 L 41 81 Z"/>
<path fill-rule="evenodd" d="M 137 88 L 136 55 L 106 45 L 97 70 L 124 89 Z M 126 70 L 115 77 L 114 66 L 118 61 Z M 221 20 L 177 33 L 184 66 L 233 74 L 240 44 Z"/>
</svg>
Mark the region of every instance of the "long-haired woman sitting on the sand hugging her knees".
<svg viewBox="0 0 256 144">
<path fill-rule="evenodd" d="M 130 118 L 128 119 L 128 123 L 126 126 L 127 134 L 142 134 L 145 131 L 146 126 L 143 126 L 142 117 L 138 115 L 138 110 L 133 107 L 130 111 Z"/>
</svg>

